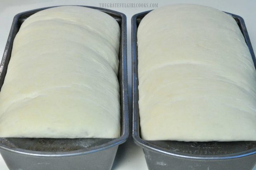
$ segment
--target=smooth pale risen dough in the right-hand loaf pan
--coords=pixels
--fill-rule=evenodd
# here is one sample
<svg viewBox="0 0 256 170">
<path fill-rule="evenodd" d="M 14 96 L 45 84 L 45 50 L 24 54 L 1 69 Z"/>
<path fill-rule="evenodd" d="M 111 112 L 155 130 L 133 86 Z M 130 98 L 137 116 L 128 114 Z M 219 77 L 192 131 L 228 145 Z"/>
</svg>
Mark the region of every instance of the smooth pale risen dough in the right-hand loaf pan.
<svg viewBox="0 0 256 170">
<path fill-rule="evenodd" d="M 143 139 L 256 140 L 256 71 L 230 15 L 161 7 L 142 19 L 137 40 Z"/>
</svg>

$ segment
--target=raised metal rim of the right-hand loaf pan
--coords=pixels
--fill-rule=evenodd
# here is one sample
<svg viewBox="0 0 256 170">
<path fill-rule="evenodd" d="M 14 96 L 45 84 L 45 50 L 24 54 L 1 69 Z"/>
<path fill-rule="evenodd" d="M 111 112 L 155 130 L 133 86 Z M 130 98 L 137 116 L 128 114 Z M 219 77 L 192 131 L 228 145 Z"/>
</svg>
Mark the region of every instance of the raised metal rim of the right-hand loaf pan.
<svg viewBox="0 0 256 170">
<path fill-rule="evenodd" d="M 139 119 L 139 111 L 138 111 L 138 87 L 137 87 L 137 19 L 138 17 L 145 17 L 149 12 L 152 10 L 148 10 L 145 12 L 140 12 L 137 14 L 134 14 L 131 18 L 131 26 L 132 26 L 132 109 L 133 109 L 133 141 L 138 146 L 142 147 L 142 149 L 147 149 L 149 151 L 152 151 L 157 154 L 164 154 L 166 156 L 173 156 L 176 158 L 185 158 L 185 159 L 193 159 L 193 160 L 226 160 L 226 159 L 235 159 L 235 158 L 242 158 L 245 156 L 250 156 L 256 154 L 256 147 L 254 149 L 249 149 L 247 151 L 240 151 L 236 153 L 230 153 L 230 154 L 223 154 L 223 155 L 196 155 L 196 154 L 189 154 L 189 153 L 179 153 L 175 151 L 170 151 L 168 149 L 165 149 L 161 146 L 157 146 L 155 144 L 150 143 L 147 140 L 144 140 L 140 137 L 140 119 Z M 224 12 L 224 11 L 223 11 Z M 250 54 L 252 59 L 255 59 L 255 54 L 253 51 L 253 48 L 251 46 L 251 41 L 249 39 L 249 35 L 247 32 L 247 28 L 244 23 L 244 19 L 240 17 L 239 15 L 232 14 L 229 12 L 225 12 L 228 15 L 231 15 L 233 18 L 236 18 L 239 20 L 241 26 L 242 26 L 242 33 L 244 34 L 244 39 L 247 43 L 247 46 L 249 48 Z M 255 63 L 254 63 L 255 66 Z M 160 140 L 159 140 L 160 141 Z"/>
</svg>

